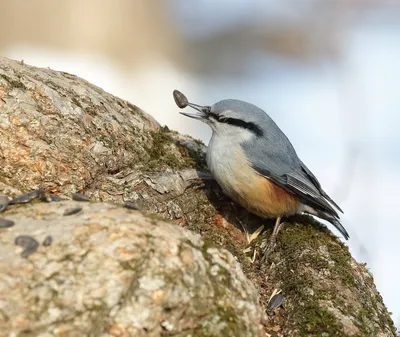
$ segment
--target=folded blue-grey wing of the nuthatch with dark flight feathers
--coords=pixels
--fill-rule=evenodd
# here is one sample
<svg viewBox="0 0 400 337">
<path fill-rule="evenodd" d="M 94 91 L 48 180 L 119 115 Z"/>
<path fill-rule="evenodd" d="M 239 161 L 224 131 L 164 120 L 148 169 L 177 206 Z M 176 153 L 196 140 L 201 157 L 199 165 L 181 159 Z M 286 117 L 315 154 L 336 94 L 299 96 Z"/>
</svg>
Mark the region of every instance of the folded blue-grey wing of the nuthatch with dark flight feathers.
<svg viewBox="0 0 400 337">
<path fill-rule="evenodd" d="M 257 141 L 242 144 L 254 170 L 294 194 L 304 204 L 338 217 L 329 202 L 335 206 L 336 204 L 322 190 L 317 178 L 297 157 L 286 136 L 282 134 L 282 137 L 275 142 L 258 138 Z M 338 209 L 340 210 L 339 207 Z"/>
</svg>

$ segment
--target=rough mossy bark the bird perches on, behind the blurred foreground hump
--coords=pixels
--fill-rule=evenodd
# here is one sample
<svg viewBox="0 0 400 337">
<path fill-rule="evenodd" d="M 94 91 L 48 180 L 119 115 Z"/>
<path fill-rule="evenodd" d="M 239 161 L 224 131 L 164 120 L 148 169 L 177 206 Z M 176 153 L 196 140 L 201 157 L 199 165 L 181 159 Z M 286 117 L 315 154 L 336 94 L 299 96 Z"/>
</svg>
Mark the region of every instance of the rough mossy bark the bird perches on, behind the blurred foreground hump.
<svg viewBox="0 0 400 337">
<path fill-rule="evenodd" d="M 268 334 L 395 336 L 367 268 L 309 217 L 290 219 L 278 236 L 277 249 L 261 264 L 271 223 L 248 215 L 224 196 L 207 174 L 204 150 L 200 142 L 160 127 L 137 107 L 73 75 L 0 59 L 0 194 L 13 196 L 42 187 L 48 194 L 68 196 L 79 191 L 96 201 L 133 201 L 145 212 L 201 234 L 205 247 L 222 246 L 237 257 L 258 288 L 264 311 L 272 291 L 282 289 L 284 306 L 264 314 Z M 33 209 L 11 208 L 4 216 L 9 212 L 22 217 Z M 266 230 L 249 243 L 242 227 L 251 232 L 262 224 Z M 0 229 L 0 237 L 17 225 Z M 57 244 L 62 245 L 55 238 Z M 106 254 L 99 249 L 99 254 Z M 43 256 L 45 268 L 51 260 Z M 34 266 L 34 258 L 35 254 L 23 263 Z M 79 259 L 70 264 L 84 269 Z M 46 282 L 43 286 L 48 286 Z M 98 282 L 94 275 L 93 282 Z M 58 301 L 57 296 L 50 300 L 52 305 Z M 196 331 L 193 336 L 207 335 Z"/>
</svg>

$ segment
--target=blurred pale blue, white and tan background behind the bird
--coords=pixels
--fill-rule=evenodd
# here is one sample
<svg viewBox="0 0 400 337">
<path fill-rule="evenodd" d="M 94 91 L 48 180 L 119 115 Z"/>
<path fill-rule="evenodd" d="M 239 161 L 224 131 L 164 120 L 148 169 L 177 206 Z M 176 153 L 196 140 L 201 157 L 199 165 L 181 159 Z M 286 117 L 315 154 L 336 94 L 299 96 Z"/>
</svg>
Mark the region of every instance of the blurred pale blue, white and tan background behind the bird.
<svg viewBox="0 0 400 337">
<path fill-rule="evenodd" d="M 398 0 L 0 0 L 0 55 L 77 74 L 202 139 L 173 89 L 254 103 L 344 209 L 400 325 Z"/>
</svg>

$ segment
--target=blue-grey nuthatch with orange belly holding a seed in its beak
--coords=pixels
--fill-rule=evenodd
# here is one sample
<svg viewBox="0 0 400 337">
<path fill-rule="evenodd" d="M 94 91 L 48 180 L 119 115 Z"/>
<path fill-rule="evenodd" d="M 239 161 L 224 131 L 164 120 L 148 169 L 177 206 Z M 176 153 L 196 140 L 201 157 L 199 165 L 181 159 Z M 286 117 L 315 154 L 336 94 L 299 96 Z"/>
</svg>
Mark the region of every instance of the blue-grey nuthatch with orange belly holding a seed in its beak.
<svg viewBox="0 0 400 337">
<path fill-rule="evenodd" d="M 218 184 L 250 212 L 276 218 L 273 237 L 282 217 L 305 212 L 329 221 L 345 239 L 349 238 L 335 208 L 343 211 L 324 192 L 266 112 L 235 99 L 201 106 L 189 103 L 177 90 L 174 99 L 180 108 L 189 106 L 198 111 L 182 115 L 211 127 L 207 165 Z"/>
</svg>

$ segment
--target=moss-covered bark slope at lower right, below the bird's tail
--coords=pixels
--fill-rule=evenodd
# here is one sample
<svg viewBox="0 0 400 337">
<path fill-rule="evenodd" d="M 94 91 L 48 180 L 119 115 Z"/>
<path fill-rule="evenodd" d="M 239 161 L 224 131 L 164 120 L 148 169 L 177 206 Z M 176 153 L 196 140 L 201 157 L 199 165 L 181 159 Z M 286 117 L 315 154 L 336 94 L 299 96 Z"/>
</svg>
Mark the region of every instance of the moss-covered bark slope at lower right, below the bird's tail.
<svg viewBox="0 0 400 337">
<path fill-rule="evenodd" d="M 357 336 L 373 336 L 385 328 L 395 331 L 390 316 L 378 309 L 381 298 L 373 295 L 372 280 L 360 280 L 351 265 L 348 248 L 325 226 L 307 217 L 296 217 L 278 235 L 277 246 L 270 256 L 272 269 L 256 271 L 246 265 L 246 274 L 263 290 L 261 302 L 266 305 L 274 288 L 281 288 L 285 310 L 273 323 L 299 336 L 343 336 L 340 318 L 325 307 L 340 310 L 353 318 Z M 253 242 L 259 247 L 262 235 Z M 371 291 L 365 291 L 365 288 Z M 364 289 L 364 290 L 363 290 Z M 267 291 L 266 291 L 267 290 Z M 349 295 L 351 293 L 351 295 Z M 361 310 L 359 310 L 361 308 Z M 378 319 L 378 321 L 375 321 Z"/>
</svg>

